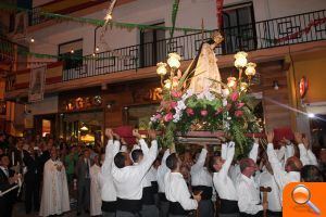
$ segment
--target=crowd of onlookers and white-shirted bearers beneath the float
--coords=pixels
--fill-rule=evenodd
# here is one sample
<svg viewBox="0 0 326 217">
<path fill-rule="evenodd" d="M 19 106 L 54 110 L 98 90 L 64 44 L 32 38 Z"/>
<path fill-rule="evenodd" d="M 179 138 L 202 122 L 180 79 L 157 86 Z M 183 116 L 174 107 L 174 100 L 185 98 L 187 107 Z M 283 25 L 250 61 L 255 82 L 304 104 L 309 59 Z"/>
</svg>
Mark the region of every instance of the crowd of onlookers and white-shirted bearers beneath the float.
<svg viewBox="0 0 326 217">
<path fill-rule="evenodd" d="M 281 216 L 286 184 L 325 180 L 326 150 L 315 154 L 301 133 L 275 142 L 267 132 L 267 145 L 255 138 L 248 156 L 237 157 L 233 141 L 220 151 L 200 143 L 178 153 L 162 149 L 155 131 L 147 140 L 137 130 L 133 136 L 130 145 L 105 129 L 108 144 L 90 148 L 0 135 L 0 191 L 23 180 L 22 190 L 0 196 L 0 216 L 12 216 L 17 200 L 26 214 L 62 215 L 73 197 L 77 216 Z"/>
</svg>

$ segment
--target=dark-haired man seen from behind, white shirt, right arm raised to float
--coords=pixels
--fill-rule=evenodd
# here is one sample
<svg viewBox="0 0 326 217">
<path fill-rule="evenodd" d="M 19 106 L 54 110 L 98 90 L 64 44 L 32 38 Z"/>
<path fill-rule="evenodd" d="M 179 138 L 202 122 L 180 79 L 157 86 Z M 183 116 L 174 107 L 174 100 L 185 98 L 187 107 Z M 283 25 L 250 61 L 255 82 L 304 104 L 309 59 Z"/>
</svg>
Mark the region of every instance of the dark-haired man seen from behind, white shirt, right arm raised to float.
<svg viewBox="0 0 326 217">
<path fill-rule="evenodd" d="M 112 176 L 117 195 L 116 217 L 135 217 L 141 210 L 142 179 L 158 155 L 158 142 L 154 131 L 149 131 L 152 140 L 148 153 L 143 152 L 143 159 L 138 165 L 128 165 L 128 155 L 117 153 L 112 164 Z M 141 149 L 146 142 L 141 142 Z"/>
</svg>

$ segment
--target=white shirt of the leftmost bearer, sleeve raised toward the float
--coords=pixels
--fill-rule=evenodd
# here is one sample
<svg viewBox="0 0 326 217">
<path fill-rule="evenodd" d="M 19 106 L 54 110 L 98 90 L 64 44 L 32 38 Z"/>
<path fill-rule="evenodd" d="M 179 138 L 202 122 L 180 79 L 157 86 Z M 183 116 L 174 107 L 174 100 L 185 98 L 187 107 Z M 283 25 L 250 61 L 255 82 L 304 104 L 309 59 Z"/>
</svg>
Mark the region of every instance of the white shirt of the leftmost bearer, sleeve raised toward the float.
<svg viewBox="0 0 326 217">
<path fill-rule="evenodd" d="M 109 140 L 105 148 L 105 158 L 99 173 L 99 186 L 101 189 L 102 201 L 112 202 L 116 201 L 116 191 L 113 184 L 113 177 L 111 174 L 112 163 L 114 156 L 118 153 L 120 141 Z"/>
</svg>

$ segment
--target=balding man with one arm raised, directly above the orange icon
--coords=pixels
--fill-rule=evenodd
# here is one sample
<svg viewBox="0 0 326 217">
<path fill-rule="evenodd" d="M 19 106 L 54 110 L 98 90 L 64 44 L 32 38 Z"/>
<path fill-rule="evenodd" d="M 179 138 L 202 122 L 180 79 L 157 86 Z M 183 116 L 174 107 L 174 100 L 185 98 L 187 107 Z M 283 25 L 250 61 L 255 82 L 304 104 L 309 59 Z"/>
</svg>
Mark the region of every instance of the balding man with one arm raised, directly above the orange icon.
<svg viewBox="0 0 326 217">
<path fill-rule="evenodd" d="M 267 155 L 268 162 L 271 163 L 273 174 L 275 177 L 275 181 L 277 182 L 280 189 L 280 200 L 283 199 L 283 190 L 286 184 L 290 182 L 299 182 L 300 181 L 300 170 L 302 168 L 301 161 L 296 157 L 291 156 L 287 158 L 285 166 L 281 166 L 281 163 L 277 158 L 276 152 L 273 145 L 274 140 L 274 132 L 267 133 Z"/>
</svg>

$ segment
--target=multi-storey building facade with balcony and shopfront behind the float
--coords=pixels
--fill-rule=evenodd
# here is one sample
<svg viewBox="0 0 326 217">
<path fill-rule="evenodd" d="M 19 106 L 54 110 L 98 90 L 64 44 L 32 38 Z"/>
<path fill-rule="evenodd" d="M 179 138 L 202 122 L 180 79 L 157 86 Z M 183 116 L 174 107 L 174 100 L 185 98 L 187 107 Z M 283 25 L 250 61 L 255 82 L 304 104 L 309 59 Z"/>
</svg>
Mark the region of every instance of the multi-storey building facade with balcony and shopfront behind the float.
<svg viewBox="0 0 326 217">
<path fill-rule="evenodd" d="M 14 31 L 10 37 L 30 53 L 49 55 L 28 55 L 28 64 L 23 66 L 15 59 L 5 92 L 5 99 L 16 106 L 14 118 L 10 119 L 15 123 L 11 131 L 23 125 L 20 130 L 35 128 L 37 132 L 52 132 L 66 139 L 73 136 L 93 140 L 101 137 L 98 133 L 105 127 L 146 128 L 160 103 L 156 63 L 164 62 L 170 52 L 177 52 L 183 58 L 181 68 L 186 68 L 201 42 L 210 37 L 209 31 L 176 30 L 171 39 L 170 31 L 163 29 L 104 30 L 41 14 L 47 11 L 103 20 L 108 1 L 30 3 L 23 33 Z M 113 10 L 113 21 L 172 26 L 172 0 L 120 0 Z M 176 26 L 200 29 L 202 23 L 204 29 L 217 29 L 216 1 L 180 1 Z M 215 52 L 223 79 L 236 74 L 234 54 L 240 50 L 248 52 L 250 61 L 258 63 L 259 76 L 252 92 L 262 107 L 266 129 L 292 128 L 310 136 L 319 125 L 312 123 L 308 113 L 321 118 L 326 115 L 326 92 L 322 91 L 326 2 L 224 0 L 221 30 L 225 40 Z M 47 68 L 43 100 L 28 103 L 32 68 L 41 66 Z M 306 92 L 300 95 L 304 87 Z M 91 128 L 90 138 L 80 130 L 83 127 Z"/>
</svg>

